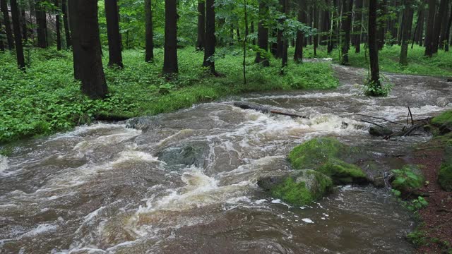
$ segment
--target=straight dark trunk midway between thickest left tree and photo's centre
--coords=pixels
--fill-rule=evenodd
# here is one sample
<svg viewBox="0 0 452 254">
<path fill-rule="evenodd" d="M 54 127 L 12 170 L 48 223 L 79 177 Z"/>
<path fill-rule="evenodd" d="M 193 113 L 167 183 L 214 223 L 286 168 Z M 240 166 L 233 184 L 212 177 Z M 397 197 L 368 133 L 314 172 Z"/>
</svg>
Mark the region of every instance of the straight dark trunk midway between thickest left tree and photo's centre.
<svg viewBox="0 0 452 254">
<path fill-rule="evenodd" d="M 165 56 L 163 73 L 179 73 L 177 65 L 177 0 L 165 1 Z M 172 77 L 169 77 L 172 78 Z"/>
</svg>

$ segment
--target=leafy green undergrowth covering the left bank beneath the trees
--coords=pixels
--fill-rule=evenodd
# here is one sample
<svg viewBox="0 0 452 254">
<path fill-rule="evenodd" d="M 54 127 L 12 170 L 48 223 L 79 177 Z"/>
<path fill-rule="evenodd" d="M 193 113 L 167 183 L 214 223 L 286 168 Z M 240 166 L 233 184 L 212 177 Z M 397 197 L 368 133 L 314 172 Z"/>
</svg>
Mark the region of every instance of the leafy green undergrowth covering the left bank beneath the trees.
<svg viewBox="0 0 452 254">
<path fill-rule="evenodd" d="M 106 53 L 104 49 L 105 65 Z M 239 49 L 218 49 L 216 68 L 222 74 L 220 78 L 201 68 L 203 52 L 180 49 L 178 54 L 179 78 L 168 82 L 161 75 L 162 49 L 155 49 L 154 63 L 144 62 L 143 50 L 125 51 L 123 70 L 105 67 L 109 95 L 97 101 L 81 95 L 80 84 L 73 80 L 71 52 L 33 49 L 26 73 L 18 71 L 13 54 L 0 54 L 0 143 L 66 131 L 99 116 L 124 119 L 244 92 L 338 86 L 328 63 L 290 61 L 285 75 L 279 75 L 280 60 L 271 59 L 271 66 L 262 68 L 254 64 L 254 53 L 249 52 L 248 84 L 244 85 Z"/>
</svg>

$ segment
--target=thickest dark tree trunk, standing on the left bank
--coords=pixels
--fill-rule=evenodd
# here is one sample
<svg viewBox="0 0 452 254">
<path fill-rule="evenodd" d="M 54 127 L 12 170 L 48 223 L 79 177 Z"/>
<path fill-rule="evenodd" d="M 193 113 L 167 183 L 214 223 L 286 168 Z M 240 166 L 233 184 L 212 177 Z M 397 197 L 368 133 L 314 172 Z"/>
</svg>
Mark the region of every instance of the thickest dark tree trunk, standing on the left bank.
<svg viewBox="0 0 452 254">
<path fill-rule="evenodd" d="M 81 90 L 91 99 L 103 98 L 107 95 L 107 82 L 105 81 L 104 68 L 100 49 L 99 23 L 97 20 L 97 1 L 70 0 L 70 15 L 76 16 L 73 24 L 74 49 L 79 48 L 76 54 L 80 54 Z M 78 43 L 78 45 L 76 45 Z"/>
</svg>

